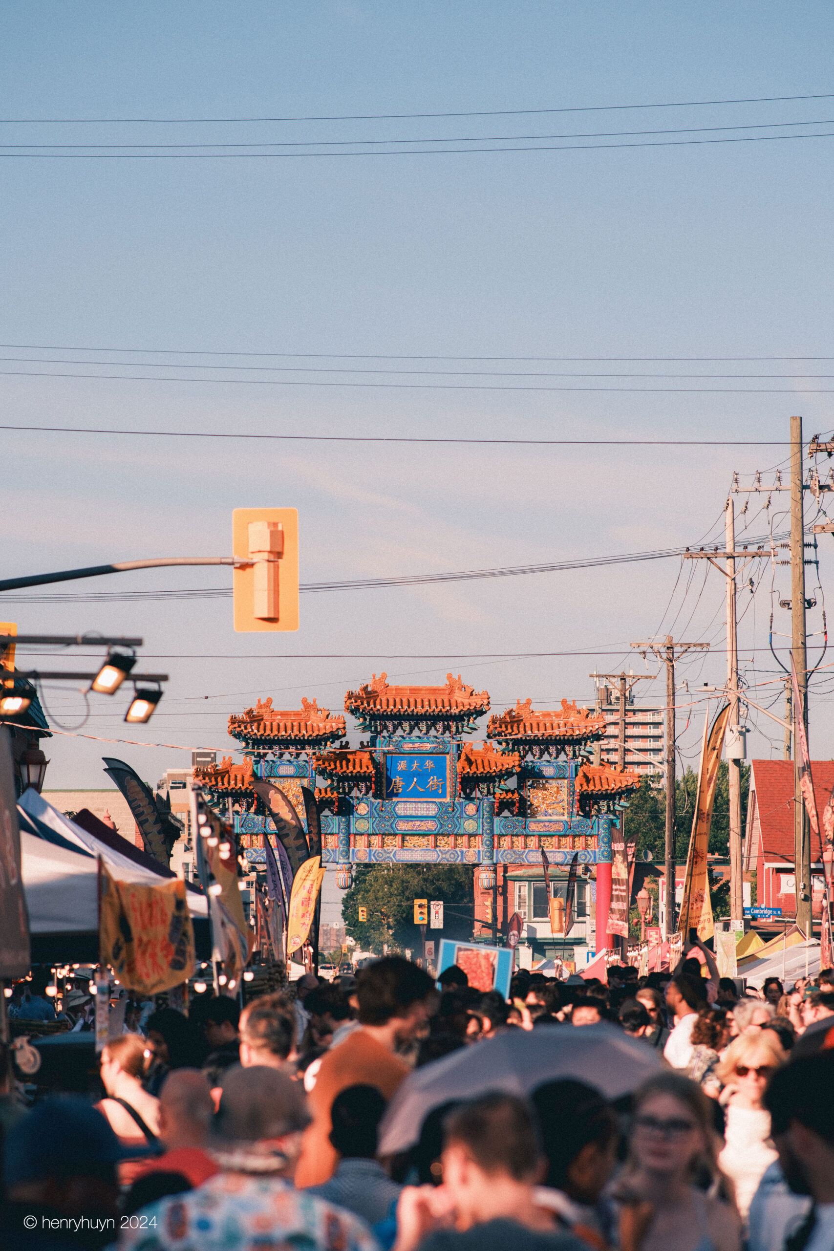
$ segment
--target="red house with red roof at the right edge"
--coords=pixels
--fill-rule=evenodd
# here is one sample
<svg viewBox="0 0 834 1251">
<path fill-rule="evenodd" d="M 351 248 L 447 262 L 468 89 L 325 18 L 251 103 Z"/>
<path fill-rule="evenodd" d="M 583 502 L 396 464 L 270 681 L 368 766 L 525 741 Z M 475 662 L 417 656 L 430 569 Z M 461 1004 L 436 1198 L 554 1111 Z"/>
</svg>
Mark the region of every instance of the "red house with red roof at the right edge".
<svg viewBox="0 0 834 1251">
<path fill-rule="evenodd" d="M 834 788 L 834 761 L 811 761 L 816 811 L 823 808 Z M 810 859 L 813 914 L 821 914 L 823 848 L 811 831 Z M 744 837 L 744 868 L 756 872 L 756 903 L 781 908 L 783 917 L 796 913 L 794 879 L 794 762 L 753 761 L 750 798 Z"/>
</svg>

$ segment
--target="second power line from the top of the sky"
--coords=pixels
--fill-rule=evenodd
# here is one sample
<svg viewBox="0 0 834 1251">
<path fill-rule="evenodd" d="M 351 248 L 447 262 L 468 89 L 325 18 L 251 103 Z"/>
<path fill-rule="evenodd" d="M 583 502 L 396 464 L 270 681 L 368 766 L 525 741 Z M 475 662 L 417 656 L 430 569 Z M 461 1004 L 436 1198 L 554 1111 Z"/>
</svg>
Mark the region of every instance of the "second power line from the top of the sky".
<svg viewBox="0 0 834 1251">
<path fill-rule="evenodd" d="M 183 149 L 195 149 L 195 148 L 211 148 L 211 149 L 228 149 L 228 148 L 365 148 L 373 144 L 380 145 L 385 144 L 390 146 L 391 144 L 465 144 L 465 143 L 540 143 L 543 139 L 630 139 L 643 135 L 695 135 L 695 134 L 715 134 L 718 131 L 726 130 L 780 130 L 786 126 L 830 126 L 834 124 L 834 118 L 810 118 L 804 121 L 751 121 L 740 125 L 725 125 L 725 126 L 679 126 L 675 129 L 664 130 L 584 130 L 574 131 L 559 135 L 454 135 L 454 136 L 440 136 L 433 138 L 431 135 L 420 136 L 418 139 L 295 139 L 295 140 L 271 140 L 248 143 L 246 140 L 238 140 L 238 143 L 200 143 L 200 144 L 186 144 L 186 143 L 174 143 L 174 144 L 0 144 L 0 151 L 16 151 L 19 149 L 26 149 L 31 151 L 33 149 L 38 151 L 45 151 L 46 149 L 60 151 L 114 151 L 119 149 L 124 150 L 136 150 L 136 149 L 169 149 L 176 148 Z"/>
</svg>

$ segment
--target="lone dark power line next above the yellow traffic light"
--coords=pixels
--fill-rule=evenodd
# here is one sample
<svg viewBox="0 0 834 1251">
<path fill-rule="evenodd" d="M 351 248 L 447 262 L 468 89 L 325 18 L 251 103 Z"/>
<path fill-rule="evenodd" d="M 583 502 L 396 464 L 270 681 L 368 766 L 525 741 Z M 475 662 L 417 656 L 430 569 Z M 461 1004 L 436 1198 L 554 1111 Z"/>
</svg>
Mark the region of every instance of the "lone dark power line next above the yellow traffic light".
<svg viewBox="0 0 834 1251">
<path fill-rule="evenodd" d="M 3 370 L 0 370 L 3 373 Z M 38 374 L 24 377 L 41 377 Z M 83 374 L 45 374 L 46 378 L 83 378 Z M 103 375 L 104 377 L 104 375 Z M 136 379 L 141 382 L 143 379 Z M 186 379 L 179 379 L 184 382 Z M 198 382 L 200 379 L 196 379 Z M 324 384 L 330 385 L 330 384 Z M 350 384 L 348 384 L 350 385 Z M 488 390 L 490 388 L 486 388 Z M 493 388 L 495 390 L 500 388 Z M 521 388 L 524 389 L 524 388 Z M 791 393 L 793 394 L 793 393 Z M 31 434 L 118 434 L 131 438 L 154 439 L 265 439 L 285 443 L 426 443 L 496 447 L 639 447 L 639 448 L 780 448 L 786 439 L 469 439 L 456 437 L 431 437 L 409 434 L 248 434 L 224 430 L 115 430 L 109 427 L 89 425 L 10 425 L 0 424 L 0 430 L 23 430 Z"/>
</svg>

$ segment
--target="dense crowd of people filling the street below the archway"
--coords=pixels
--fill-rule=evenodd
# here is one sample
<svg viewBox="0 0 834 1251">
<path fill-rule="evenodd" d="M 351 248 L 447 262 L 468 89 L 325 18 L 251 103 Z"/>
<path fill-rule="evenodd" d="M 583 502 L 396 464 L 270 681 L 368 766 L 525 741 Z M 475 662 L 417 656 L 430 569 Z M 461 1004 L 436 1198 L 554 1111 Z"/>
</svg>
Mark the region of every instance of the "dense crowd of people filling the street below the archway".
<svg viewBox="0 0 834 1251">
<path fill-rule="evenodd" d="M 95 1103 L 25 1108 L 0 1053 L 0 1247 L 834 1251 L 830 970 L 739 995 L 695 943 L 648 977 L 516 972 L 505 1000 L 393 956 L 243 1011 L 149 1007 L 101 1051 Z M 428 1108 L 413 1145 L 380 1156 L 415 1068 L 600 1022 L 656 1057 L 624 1098 L 529 1073 L 526 1096 L 508 1080 Z"/>
</svg>

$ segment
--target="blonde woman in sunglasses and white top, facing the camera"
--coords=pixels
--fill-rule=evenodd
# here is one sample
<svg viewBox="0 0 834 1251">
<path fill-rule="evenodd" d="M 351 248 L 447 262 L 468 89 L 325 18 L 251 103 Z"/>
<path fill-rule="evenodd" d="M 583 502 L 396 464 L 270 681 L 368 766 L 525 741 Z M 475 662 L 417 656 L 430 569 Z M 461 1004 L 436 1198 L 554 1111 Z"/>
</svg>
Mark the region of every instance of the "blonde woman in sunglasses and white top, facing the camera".
<svg viewBox="0 0 834 1251">
<path fill-rule="evenodd" d="M 776 1160 L 763 1096 L 770 1075 L 785 1060 L 773 1030 L 756 1030 L 734 1038 L 715 1070 L 724 1083 L 720 1102 L 726 1107 L 725 1146 L 718 1162 L 735 1186 L 744 1221 L 765 1170 Z"/>
</svg>

